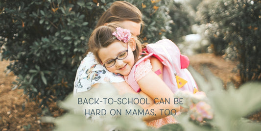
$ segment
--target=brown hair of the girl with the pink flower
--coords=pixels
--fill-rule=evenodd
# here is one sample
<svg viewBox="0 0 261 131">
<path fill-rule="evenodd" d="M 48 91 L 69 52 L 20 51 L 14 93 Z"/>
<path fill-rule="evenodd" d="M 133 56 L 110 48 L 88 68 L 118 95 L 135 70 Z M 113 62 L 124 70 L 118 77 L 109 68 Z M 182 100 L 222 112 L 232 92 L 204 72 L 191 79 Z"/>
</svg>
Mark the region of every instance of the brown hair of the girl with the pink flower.
<svg viewBox="0 0 261 131">
<path fill-rule="evenodd" d="M 96 59 L 101 62 L 98 52 L 101 48 L 106 48 L 115 41 L 119 41 L 112 35 L 114 31 L 116 31 L 117 27 L 121 27 L 118 22 L 109 23 L 106 26 L 99 26 L 97 27 L 93 33 L 91 34 L 91 37 L 89 38 L 89 49 L 91 52 L 94 53 Z M 138 60 L 138 57 L 140 55 L 140 52 L 142 50 L 142 44 L 137 39 L 136 36 L 133 36 L 135 38 L 136 42 L 136 50 L 133 51 L 135 62 Z"/>
</svg>

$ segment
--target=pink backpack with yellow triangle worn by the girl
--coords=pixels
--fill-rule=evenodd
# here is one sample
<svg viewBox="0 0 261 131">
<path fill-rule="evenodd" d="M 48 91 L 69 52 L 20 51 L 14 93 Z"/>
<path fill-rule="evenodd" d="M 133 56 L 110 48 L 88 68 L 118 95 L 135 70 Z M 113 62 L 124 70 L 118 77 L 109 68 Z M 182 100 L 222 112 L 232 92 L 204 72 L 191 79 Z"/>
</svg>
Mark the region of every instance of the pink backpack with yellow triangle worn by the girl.
<svg viewBox="0 0 261 131">
<path fill-rule="evenodd" d="M 173 93 L 178 90 L 189 90 L 191 93 L 196 93 L 198 91 L 195 80 L 186 69 L 190 63 L 189 58 L 182 55 L 179 48 L 172 41 L 163 39 L 155 44 L 148 44 L 145 51 L 148 55 L 142 57 L 135 63 L 128 76 L 127 82 L 134 91 L 139 92 L 141 89 L 134 78 L 136 67 L 150 56 L 154 56 L 162 62 L 163 80 Z"/>
</svg>

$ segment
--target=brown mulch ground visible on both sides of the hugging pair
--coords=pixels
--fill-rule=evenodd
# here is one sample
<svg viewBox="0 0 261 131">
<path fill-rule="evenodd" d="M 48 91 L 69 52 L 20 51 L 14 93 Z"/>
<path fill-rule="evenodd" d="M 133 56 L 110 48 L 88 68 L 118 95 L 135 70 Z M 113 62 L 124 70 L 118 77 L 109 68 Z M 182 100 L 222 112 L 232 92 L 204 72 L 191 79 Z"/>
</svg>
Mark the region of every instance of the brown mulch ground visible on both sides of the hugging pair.
<svg viewBox="0 0 261 131">
<path fill-rule="evenodd" d="M 224 60 L 221 56 L 202 53 L 190 56 L 190 65 L 200 72 L 201 65 L 206 65 L 212 73 L 222 79 L 224 83 L 233 81 L 239 84 L 237 72 L 232 72 L 237 62 Z M 41 109 L 34 102 L 27 102 L 22 89 L 11 90 L 15 76 L 6 74 L 4 70 L 9 61 L 0 61 L 0 131 L 51 131 L 53 124 L 41 122 Z M 51 105 L 50 112 L 60 115 L 63 112 L 55 104 Z M 261 120 L 261 113 L 249 117 L 253 120 Z"/>
</svg>

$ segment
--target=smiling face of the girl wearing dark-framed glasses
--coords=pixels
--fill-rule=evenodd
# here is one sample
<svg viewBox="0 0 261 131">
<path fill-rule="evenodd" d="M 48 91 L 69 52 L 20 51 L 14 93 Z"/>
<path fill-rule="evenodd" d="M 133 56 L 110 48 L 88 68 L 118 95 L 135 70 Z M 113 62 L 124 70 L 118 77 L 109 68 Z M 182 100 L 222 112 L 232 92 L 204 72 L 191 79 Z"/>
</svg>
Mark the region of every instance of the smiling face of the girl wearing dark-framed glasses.
<svg viewBox="0 0 261 131">
<path fill-rule="evenodd" d="M 104 64 L 105 62 L 111 59 L 117 58 L 117 56 L 121 52 L 124 52 L 127 49 L 128 49 L 128 55 L 126 56 L 126 58 L 122 60 L 116 59 L 115 65 L 113 65 L 112 67 L 106 67 L 106 69 L 110 72 L 127 76 L 129 75 L 135 61 L 132 52 L 135 50 L 135 46 L 133 47 L 133 44 L 127 45 L 126 43 L 117 40 L 112 44 L 110 44 L 108 47 L 99 49 L 98 56 L 102 64 Z"/>
</svg>

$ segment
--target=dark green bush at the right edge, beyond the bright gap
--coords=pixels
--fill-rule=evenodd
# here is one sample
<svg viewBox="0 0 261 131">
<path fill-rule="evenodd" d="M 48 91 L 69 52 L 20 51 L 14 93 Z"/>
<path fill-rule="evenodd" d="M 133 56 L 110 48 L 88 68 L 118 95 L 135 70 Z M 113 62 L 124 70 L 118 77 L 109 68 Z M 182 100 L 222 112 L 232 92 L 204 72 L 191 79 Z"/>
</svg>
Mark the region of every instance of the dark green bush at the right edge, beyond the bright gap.
<svg viewBox="0 0 261 131">
<path fill-rule="evenodd" d="M 242 83 L 260 81 L 261 0 L 210 1 L 204 0 L 199 11 L 202 24 L 209 25 L 207 37 L 213 44 L 214 53 L 239 60 Z"/>
</svg>

